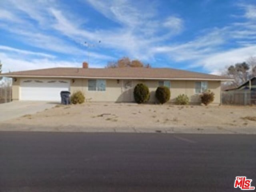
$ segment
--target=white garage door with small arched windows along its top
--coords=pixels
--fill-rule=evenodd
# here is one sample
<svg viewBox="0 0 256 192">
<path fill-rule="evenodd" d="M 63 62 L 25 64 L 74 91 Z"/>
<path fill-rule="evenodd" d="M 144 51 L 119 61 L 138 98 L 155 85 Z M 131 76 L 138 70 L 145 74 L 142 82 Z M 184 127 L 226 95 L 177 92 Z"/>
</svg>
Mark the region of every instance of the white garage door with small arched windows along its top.
<svg viewBox="0 0 256 192">
<path fill-rule="evenodd" d="M 22 79 L 20 100 L 60 101 L 60 92 L 68 91 L 69 88 L 69 80 Z"/>
</svg>

